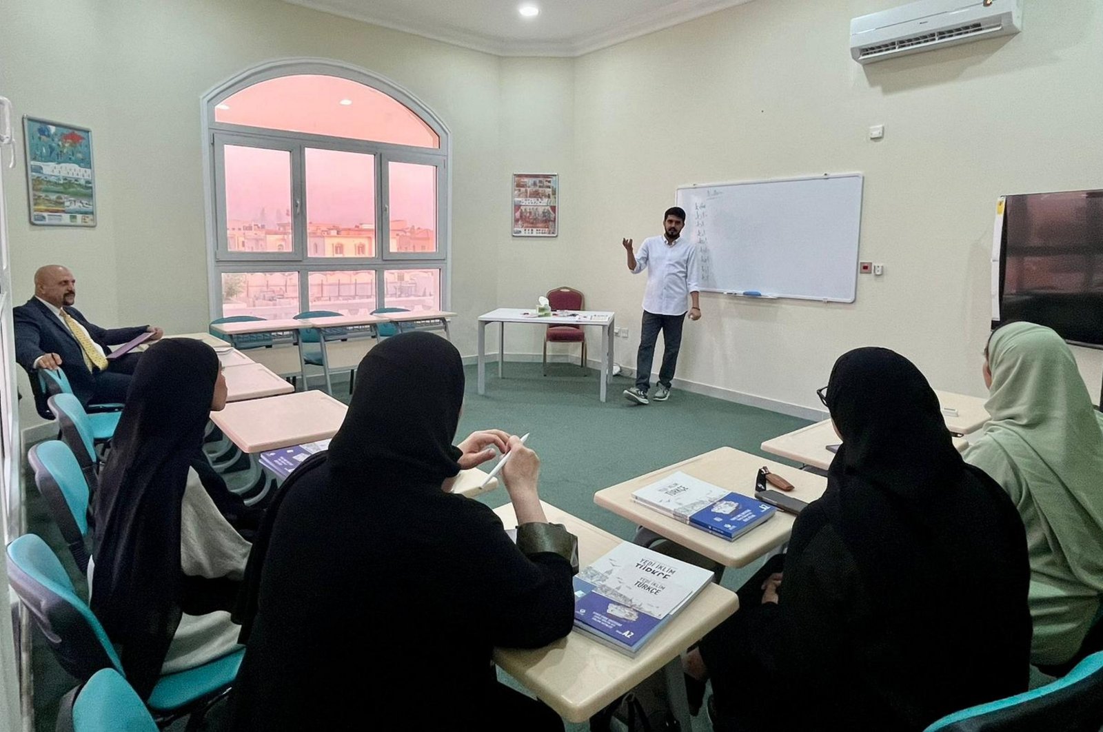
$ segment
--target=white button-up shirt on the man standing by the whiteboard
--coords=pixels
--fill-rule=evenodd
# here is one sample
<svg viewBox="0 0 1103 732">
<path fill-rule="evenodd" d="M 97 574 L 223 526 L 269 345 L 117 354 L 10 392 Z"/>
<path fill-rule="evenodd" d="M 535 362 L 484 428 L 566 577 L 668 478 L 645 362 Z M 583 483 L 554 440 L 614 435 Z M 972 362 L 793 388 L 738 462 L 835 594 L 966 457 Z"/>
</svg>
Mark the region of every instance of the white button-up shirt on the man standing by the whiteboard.
<svg viewBox="0 0 1103 732">
<path fill-rule="evenodd" d="M 647 271 L 647 289 L 643 293 L 643 309 L 655 315 L 682 315 L 689 306 L 690 292 L 700 290 L 700 268 L 697 247 L 678 237 L 667 243 L 665 236 L 643 240 L 635 252 L 632 273 Z"/>
</svg>

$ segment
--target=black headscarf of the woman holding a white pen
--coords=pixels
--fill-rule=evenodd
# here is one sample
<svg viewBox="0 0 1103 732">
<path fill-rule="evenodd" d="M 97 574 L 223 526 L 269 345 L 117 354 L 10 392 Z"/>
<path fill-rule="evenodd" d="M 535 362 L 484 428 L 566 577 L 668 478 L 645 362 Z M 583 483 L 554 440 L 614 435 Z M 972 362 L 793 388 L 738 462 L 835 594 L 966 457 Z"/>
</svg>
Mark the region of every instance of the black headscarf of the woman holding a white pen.
<svg viewBox="0 0 1103 732">
<path fill-rule="evenodd" d="M 460 472 L 452 445 L 463 406 L 463 360 L 451 343 L 431 333 L 389 337 L 364 356 L 356 389 L 330 449 L 299 465 L 265 513 L 245 569 L 234 621 L 247 643 L 260 596 L 260 579 L 283 499 L 299 481 L 322 465 L 330 488 L 363 492 L 400 487 L 440 489 Z"/>
</svg>

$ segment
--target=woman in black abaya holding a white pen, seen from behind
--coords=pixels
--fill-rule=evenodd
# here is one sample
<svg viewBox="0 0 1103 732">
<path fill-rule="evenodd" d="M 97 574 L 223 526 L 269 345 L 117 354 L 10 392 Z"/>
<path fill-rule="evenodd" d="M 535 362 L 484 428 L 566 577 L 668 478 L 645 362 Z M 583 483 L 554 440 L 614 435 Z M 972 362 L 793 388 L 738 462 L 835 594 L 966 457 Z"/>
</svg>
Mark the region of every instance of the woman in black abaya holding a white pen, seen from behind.
<svg viewBox="0 0 1103 732">
<path fill-rule="evenodd" d="M 454 346 L 428 333 L 361 362 L 341 430 L 283 484 L 249 558 L 229 729 L 563 729 L 495 680 L 491 652 L 570 632 L 575 537 L 547 523 L 516 437 L 452 445 L 463 384 Z M 516 543 L 449 493 L 491 444 L 512 453 Z"/>
</svg>

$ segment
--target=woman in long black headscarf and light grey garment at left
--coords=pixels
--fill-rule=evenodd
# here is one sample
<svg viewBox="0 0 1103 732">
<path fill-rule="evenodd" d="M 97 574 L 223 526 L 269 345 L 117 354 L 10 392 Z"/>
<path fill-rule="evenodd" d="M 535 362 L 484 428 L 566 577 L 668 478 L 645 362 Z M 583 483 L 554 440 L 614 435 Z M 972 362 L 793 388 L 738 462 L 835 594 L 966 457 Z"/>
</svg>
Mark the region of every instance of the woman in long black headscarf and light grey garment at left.
<svg viewBox="0 0 1103 732">
<path fill-rule="evenodd" d="M 207 417 L 225 403 L 210 346 L 168 338 L 150 347 L 93 495 L 92 610 L 143 698 L 162 674 L 238 647 L 227 611 L 250 545 L 226 514 L 253 517 L 201 462 Z"/>
</svg>

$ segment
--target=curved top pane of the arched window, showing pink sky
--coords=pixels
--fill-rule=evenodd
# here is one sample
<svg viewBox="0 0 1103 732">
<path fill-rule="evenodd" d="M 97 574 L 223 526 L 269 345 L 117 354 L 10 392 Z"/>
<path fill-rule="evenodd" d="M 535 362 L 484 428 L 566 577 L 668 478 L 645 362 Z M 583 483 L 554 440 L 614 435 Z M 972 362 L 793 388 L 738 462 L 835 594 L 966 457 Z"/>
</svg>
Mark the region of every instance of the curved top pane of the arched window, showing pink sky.
<svg viewBox="0 0 1103 732">
<path fill-rule="evenodd" d="M 293 104 L 288 104 L 293 99 Z M 439 148 L 440 138 L 383 92 L 339 76 L 298 74 L 246 87 L 215 106 L 231 125 Z"/>
</svg>

